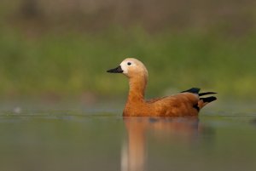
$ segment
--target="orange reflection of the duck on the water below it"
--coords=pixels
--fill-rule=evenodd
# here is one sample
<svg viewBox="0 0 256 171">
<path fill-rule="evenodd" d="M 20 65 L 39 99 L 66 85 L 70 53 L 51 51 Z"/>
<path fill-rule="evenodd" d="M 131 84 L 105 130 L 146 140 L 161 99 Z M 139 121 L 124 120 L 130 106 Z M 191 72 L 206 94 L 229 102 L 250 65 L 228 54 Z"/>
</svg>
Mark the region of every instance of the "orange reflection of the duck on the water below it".
<svg viewBox="0 0 256 171">
<path fill-rule="evenodd" d="M 179 138 L 195 140 L 200 133 L 198 117 L 124 117 L 127 139 L 122 146 L 121 170 L 145 170 L 147 151 L 146 134 L 156 139 Z"/>
</svg>

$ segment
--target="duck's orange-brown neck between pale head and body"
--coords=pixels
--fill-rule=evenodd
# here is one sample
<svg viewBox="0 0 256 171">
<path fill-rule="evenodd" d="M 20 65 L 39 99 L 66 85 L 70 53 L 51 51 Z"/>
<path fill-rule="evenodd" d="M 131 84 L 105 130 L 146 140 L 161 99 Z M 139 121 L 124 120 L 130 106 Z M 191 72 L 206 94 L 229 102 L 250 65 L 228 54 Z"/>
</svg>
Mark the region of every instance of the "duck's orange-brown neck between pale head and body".
<svg viewBox="0 0 256 171">
<path fill-rule="evenodd" d="M 129 79 L 129 103 L 138 103 L 144 101 L 145 89 L 147 85 L 147 77 L 132 77 Z"/>
</svg>

